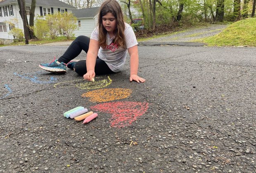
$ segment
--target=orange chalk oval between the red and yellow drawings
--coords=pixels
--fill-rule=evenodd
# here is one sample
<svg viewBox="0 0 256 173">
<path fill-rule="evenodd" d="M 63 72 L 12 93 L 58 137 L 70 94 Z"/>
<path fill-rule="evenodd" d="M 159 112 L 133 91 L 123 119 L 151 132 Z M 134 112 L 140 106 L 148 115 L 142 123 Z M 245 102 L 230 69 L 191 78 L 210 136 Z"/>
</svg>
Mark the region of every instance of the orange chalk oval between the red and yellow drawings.
<svg viewBox="0 0 256 173">
<path fill-rule="evenodd" d="M 98 89 L 82 94 L 82 97 L 89 97 L 91 102 L 107 102 L 126 98 L 132 94 L 131 89 L 111 88 Z"/>
</svg>

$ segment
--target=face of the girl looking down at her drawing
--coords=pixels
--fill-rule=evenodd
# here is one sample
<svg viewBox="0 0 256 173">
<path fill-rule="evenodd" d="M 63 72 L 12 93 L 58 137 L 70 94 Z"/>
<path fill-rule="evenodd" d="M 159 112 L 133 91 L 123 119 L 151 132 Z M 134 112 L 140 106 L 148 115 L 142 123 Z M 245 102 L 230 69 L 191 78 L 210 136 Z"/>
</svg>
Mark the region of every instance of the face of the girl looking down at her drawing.
<svg viewBox="0 0 256 173">
<path fill-rule="evenodd" d="M 107 30 L 109 35 L 113 35 L 114 30 L 116 29 L 116 18 L 112 13 L 107 13 L 105 16 L 102 16 L 102 24 Z"/>
</svg>

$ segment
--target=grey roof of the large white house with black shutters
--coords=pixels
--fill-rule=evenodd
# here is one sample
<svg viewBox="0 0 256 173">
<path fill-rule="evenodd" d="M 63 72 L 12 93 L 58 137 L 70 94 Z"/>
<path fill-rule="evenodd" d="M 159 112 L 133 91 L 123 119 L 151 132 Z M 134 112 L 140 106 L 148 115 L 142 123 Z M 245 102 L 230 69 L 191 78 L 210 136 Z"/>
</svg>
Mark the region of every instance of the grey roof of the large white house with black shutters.
<svg viewBox="0 0 256 173">
<path fill-rule="evenodd" d="M 17 0 L 4 0 L 0 2 L 0 5 L 9 4 L 9 3 L 18 3 Z M 31 0 L 25 0 L 26 4 L 31 4 Z M 52 6 L 52 7 L 65 7 L 65 8 L 76 8 L 71 5 L 68 5 L 64 2 L 59 0 L 36 0 L 36 5 L 45 5 L 45 6 Z"/>
</svg>

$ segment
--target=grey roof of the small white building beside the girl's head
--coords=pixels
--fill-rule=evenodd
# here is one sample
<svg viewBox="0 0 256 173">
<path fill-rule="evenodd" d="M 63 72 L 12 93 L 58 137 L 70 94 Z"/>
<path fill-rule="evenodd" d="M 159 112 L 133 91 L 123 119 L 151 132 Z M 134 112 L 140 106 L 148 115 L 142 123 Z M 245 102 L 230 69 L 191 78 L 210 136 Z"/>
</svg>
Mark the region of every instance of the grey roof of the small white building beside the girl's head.
<svg viewBox="0 0 256 173">
<path fill-rule="evenodd" d="M 72 13 L 74 13 L 74 16 L 76 16 L 76 18 L 92 18 L 98 14 L 99 9 L 100 7 L 73 9 Z"/>
</svg>

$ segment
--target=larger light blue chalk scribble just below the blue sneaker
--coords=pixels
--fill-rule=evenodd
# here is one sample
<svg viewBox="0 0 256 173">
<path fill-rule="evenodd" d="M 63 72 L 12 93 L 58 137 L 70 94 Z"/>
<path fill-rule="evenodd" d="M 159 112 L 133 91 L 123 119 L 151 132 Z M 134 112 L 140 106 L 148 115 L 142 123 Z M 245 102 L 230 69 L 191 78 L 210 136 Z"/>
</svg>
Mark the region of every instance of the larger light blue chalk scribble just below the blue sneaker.
<svg viewBox="0 0 256 173">
<path fill-rule="evenodd" d="M 16 72 L 14 72 L 14 75 L 17 75 L 19 77 L 22 77 L 24 79 L 29 79 L 31 80 L 31 82 L 37 83 L 37 84 L 50 84 L 50 83 L 54 83 L 55 81 L 57 81 L 56 77 L 50 77 L 50 79 L 48 81 L 41 81 L 39 80 L 38 75 L 42 75 L 44 72 L 39 71 L 39 72 L 35 72 L 35 73 L 26 73 L 24 75 L 19 75 Z"/>
</svg>

